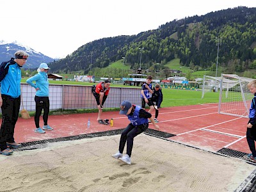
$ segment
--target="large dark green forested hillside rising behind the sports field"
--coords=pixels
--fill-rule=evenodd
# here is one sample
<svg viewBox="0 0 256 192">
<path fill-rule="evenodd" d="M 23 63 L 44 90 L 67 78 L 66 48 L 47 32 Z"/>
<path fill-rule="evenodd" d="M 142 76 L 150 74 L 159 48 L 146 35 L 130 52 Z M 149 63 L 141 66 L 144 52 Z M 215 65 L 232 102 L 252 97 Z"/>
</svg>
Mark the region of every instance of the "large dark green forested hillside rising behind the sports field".
<svg viewBox="0 0 256 192">
<path fill-rule="evenodd" d="M 139 67 L 141 59 L 143 69 L 159 63 L 160 70 L 164 70 L 166 62 L 179 58 L 180 65 L 193 70 L 214 70 L 218 41 L 218 63 L 225 72 L 255 68 L 256 8 L 237 7 L 200 17 L 195 15 L 173 20 L 138 35 L 95 40 L 66 58 L 50 63 L 50 67 L 52 72 L 83 70 L 88 74 L 91 67 L 106 67 L 125 57 L 125 63 L 132 68 Z"/>
</svg>

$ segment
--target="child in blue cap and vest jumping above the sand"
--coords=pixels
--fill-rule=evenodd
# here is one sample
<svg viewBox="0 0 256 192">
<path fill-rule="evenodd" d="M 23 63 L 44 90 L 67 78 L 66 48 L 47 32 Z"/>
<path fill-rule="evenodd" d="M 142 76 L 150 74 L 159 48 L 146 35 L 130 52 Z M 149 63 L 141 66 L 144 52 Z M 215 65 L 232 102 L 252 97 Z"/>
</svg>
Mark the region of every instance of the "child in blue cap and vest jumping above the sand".
<svg viewBox="0 0 256 192">
<path fill-rule="evenodd" d="M 148 118 L 152 121 L 155 129 L 159 129 L 159 126 L 154 122 L 153 116 L 142 109 L 140 106 L 132 105 L 128 100 L 124 100 L 120 106 L 121 110 L 119 114 L 126 115 L 131 121 L 129 125 L 122 131 L 119 150 L 112 157 L 124 161 L 124 163 L 131 164 L 131 154 L 133 147 L 133 140 L 138 134 L 148 129 Z M 127 144 L 126 154 L 123 156 L 125 143 Z"/>
</svg>

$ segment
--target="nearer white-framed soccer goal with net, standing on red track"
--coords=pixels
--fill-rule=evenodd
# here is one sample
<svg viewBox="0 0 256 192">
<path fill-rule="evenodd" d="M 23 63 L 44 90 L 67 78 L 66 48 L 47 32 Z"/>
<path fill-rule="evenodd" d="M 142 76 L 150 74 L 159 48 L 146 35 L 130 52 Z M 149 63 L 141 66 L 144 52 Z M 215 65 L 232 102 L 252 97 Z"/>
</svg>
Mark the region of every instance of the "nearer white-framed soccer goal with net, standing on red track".
<svg viewBox="0 0 256 192">
<path fill-rule="evenodd" d="M 248 118 L 253 99 L 247 84 L 254 79 L 221 74 L 218 113 Z"/>
</svg>

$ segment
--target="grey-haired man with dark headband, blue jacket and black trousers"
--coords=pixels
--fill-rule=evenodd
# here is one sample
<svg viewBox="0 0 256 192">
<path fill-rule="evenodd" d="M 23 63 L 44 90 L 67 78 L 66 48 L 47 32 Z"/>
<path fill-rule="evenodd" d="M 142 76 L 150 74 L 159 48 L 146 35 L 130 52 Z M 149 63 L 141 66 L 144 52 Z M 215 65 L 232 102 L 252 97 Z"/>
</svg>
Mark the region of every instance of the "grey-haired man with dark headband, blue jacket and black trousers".
<svg viewBox="0 0 256 192">
<path fill-rule="evenodd" d="M 0 65 L 0 106 L 3 116 L 0 129 L 0 154 L 5 156 L 13 153 L 11 148 L 21 147 L 15 142 L 13 135 L 20 110 L 20 67 L 26 63 L 29 55 L 25 51 L 17 51 L 14 56 L 15 58 Z"/>
</svg>

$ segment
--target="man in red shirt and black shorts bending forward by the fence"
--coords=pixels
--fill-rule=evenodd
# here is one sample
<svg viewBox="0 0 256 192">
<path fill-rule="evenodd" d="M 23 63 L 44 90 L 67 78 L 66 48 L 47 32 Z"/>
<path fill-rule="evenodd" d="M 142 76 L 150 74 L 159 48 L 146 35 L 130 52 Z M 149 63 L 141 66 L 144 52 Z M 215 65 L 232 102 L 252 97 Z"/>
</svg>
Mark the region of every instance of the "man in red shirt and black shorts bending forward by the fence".
<svg viewBox="0 0 256 192">
<path fill-rule="evenodd" d="M 93 90 L 93 95 L 97 102 L 97 107 L 99 109 L 97 121 L 99 124 L 105 124 L 104 120 L 101 119 L 102 108 L 103 104 L 106 101 L 110 89 L 110 80 L 106 79 L 104 82 L 100 82 L 96 85 L 95 89 Z"/>
</svg>

